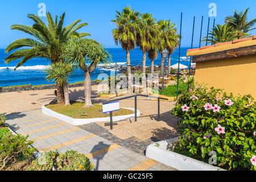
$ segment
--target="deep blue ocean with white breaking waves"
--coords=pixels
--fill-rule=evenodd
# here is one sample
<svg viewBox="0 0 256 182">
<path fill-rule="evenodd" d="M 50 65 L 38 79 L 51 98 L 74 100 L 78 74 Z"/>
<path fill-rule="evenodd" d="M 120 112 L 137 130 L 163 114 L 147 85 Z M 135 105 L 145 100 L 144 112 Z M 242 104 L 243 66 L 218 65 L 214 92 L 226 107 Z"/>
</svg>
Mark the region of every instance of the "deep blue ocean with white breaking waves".
<svg viewBox="0 0 256 182">
<path fill-rule="evenodd" d="M 110 55 L 112 55 L 113 63 L 117 63 L 118 65 L 126 66 L 126 53 L 122 48 L 106 48 L 108 49 Z M 180 51 L 180 64 L 189 65 L 189 61 L 187 61 L 186 53 L 188 47 L 181 48 Z M 19 60 L 11 61 L 9 64 L 5 64 L 5 57 L 7 54 L 5 53 L 5 49 L 0 49 L 0 86 L 13 86 L 13 85 L 42 85 L 42 84 L 52 84 L 53 82 L 49 82 L 46 80 L 46 73 L 44 73 L 44 69 L 47 65 L 51 63 L 50 60 L 35 58 L 28 60 L 23 64 L 22 67 L 19 67 L 14 71 L 16 64 Z M 179 59 L 179 49 L 176 49 L 174 53 L 171 55 L 171 65 L 174 65 L 178 62 Z M 135 48 L 133 51 L 130 51 L 130 60 L 131 65 L 136 65 L 142 60 L 142 51 L 139 48 Z M 158 58 L 155 59 L 154 65 L 160 64 L 161 57 L 158 55 Z M 167 60 L 167 59 L 166 59 Z M 146 65 L 150 66 L 150 59 L 146 59 Z M 142 66 L 142 63 L 139 65 Z M 167 65 L 167 62 L 166 62 Z M 92 80 L 98 78 L 100 73 L 106 73 L 110 76 L 110 72 L 113 69 L 105 69 L 101 66 L 98 66 L 96 70 L 91 73 Z M 68 82 L 74 83 L 78 81 L 84 80 L 84 72 L 81 69 L 77 68 L 71 74 Z M 101 80 L 101 78 L 100 78 Z"/>
</svg>

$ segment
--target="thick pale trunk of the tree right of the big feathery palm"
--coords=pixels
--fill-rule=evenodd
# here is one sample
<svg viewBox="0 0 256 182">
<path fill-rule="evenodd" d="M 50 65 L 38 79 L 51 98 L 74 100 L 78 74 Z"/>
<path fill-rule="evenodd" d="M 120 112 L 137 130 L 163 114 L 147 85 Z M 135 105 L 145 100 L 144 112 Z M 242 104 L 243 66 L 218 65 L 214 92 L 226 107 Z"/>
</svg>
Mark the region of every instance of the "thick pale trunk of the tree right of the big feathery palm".
<svg viewBox="0 0 256 182">
<path fill-rule="evenodd" d="M 92 100 L 90 99 L 92 93 L 92 81 L 90 80 L 90 72 L 84 72 L 84 94 L 85 94 L 85 106 L 93 107 Z"/>
</svg>

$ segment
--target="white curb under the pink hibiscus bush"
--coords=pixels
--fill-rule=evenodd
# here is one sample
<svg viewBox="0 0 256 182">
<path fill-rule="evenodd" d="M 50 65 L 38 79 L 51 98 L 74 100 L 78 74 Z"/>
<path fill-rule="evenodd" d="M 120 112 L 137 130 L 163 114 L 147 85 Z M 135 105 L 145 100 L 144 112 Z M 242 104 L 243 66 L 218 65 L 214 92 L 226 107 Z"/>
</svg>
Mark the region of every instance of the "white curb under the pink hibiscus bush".
<svg viewBox="0 0 256 182">
<path fill-rule="evenodd" d="M 167 150 L 168 145 L 176 142 L 179 142 L 178 138 L 152 143 L 147 146 L 146 156 L 179 171 L 226 171 L 225 169 Z M 159 143 L 160 146 L 156 147 L 156 143 Z"/>
</svg>

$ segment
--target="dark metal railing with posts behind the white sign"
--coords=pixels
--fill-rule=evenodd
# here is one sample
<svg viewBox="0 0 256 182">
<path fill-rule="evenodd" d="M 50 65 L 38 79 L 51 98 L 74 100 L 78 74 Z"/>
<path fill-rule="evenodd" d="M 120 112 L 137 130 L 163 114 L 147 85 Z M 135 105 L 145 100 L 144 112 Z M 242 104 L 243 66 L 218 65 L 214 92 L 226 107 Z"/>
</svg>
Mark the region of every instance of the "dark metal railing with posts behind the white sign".
<svg viewBox="0 0 256 182">
<path fill-rule="evenodd" d="M 127 98 L 133 98 L 134 97 L 134 110 L 135 110 L 135 122 L 137 121 L 137 97 L 151 97 L 151 98 L 157 98 L 158 99 L 158 121 L 160 119 L 160 99 L 161 100 L 168 100 L 168 98 L 161 98 L 161 97 L 154 97 L 154 96 L 148 96 L 148 95 L 143 95 L 143 94 L 135 94 L 133 96 L 127 96 L 127 97 L 122 97 L 122 98 L 117 98 L 114 100 L 110 100 L 110 101 L 105 101 L 102 102 L 102 104 L 109 104 L 111 102 L 115 102 L 115 101 L 120 101 L 120 100 L 125 100 Z M 112 116 L 112 111 L 110 112 L 110 130 L 113 129 L 113 116 Z"/>
</svg>

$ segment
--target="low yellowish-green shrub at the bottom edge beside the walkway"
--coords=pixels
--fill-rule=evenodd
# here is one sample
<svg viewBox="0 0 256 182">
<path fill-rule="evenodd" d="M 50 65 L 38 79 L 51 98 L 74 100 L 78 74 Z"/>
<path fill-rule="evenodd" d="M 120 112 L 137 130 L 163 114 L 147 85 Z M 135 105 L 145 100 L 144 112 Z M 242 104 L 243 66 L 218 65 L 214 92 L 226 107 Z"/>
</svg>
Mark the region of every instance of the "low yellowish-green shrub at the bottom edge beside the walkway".
<svg viewBox="0 0 256 182">
<path fill-rule="evenodd" d="M 56 151 L 44 152 L 39 158 L 32 162 L 29 171 L 92 171 L 94 165 L 84 154 L 77 151 L 66 151 L 59 154 Z"/>
</svg>

